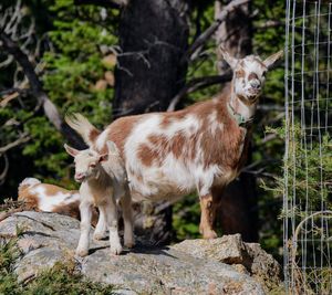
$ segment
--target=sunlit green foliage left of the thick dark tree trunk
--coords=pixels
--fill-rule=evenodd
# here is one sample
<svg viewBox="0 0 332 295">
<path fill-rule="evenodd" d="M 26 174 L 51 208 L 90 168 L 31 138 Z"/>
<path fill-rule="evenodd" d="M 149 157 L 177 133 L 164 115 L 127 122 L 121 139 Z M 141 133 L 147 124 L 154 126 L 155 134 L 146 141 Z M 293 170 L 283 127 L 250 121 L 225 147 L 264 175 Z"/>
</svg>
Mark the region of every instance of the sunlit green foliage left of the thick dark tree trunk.
<svg viewBox="0 0 332 295">
<path fill-rule="evenodd" d="M 37 17 L 38 21 L 42 21 L 38 15 L 40 12 L 49 15 L 48 22 L 39 23 L 40 35 L 37 38 L 42 39 L 41 35 L 46 34 L 49 44 L 52 44 L 44 51 L 40 65 L 43 69 L 43 87 L 50 99 L 61 115 L 80 112 L 103 128 L 111 122 L 113 97 L 112 85 L 105 85 L 105 74 L 112 76 L 114 70 L 114 65 L 105 63 L 103 59 L 111 54 L 110 49 L 117 43 L 110 31 L 114 28 L 110 14 L 116 18 L 117 12 L 106 10 L 108 17 L 104 20 L 101 10 L 94 6 L 76 7 L 73 0 L 55 0 L 52 4 L 48 1 L 27 2 L 27 11 L 34 13 L 31 17 Z M 98 87 L 100 81 L 104 83 L 103 87 Z M 68 188 L 75 186 L 69 180 L 71 159 L 64 152 L 64 139 L 42 110 L 33 115 L 35 104 L 33 97 L 27 96 L 0 109 L 1 125 L 9 119 L 25 122 L 19 127 L 1 128 L 1 145 L 17 139 L 18 129 L 31 137 L 29 143 L 9 155 L 11 168 L 15 166 L 18 154 L 21 155 L 19 161 L 25 162 L 24 171 L 9 171 L 8 179 L 12 180 L 9 180 L 8 187 L 13 188 L 8 190 L 13 192 L 11 196 L 15 194 L 18 181 L 28 176 Z"/>
</svg>

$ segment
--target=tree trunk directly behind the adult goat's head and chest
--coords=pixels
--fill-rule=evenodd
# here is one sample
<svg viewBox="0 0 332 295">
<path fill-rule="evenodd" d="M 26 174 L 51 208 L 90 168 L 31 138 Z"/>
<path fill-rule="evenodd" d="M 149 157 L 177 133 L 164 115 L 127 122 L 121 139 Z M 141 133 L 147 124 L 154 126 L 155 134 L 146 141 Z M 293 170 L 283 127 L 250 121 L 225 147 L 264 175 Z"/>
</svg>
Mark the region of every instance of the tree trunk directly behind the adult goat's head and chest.
<svg viewBox="0 0 332 295">
<path fill-rule="evenodd" d="M 227 1 L 229 2 L 229 1 Z M 216 15 L 222 9 L 221 1 L 216 1 Z M 243 57 L 251 53 L 251 20 L 250 4 L 241 6 L 234 11 L 220 25 L 216 33 L 217 45 L 228 50 L 234 56 Z M 220 59 L 220 56 L 219 56 Z M 220 63 L 219 72 L 222 74 L 228 66 Z M 249 146 L 248 162 L 251 158 Z M 258 240 L 258 212 L 256 179 L 252 175 L 241 173 L 220 193 L 217 209 L 217 223 L 221 225 L 225 234 L 241 233 L 247 242 Z"/>
</svg>

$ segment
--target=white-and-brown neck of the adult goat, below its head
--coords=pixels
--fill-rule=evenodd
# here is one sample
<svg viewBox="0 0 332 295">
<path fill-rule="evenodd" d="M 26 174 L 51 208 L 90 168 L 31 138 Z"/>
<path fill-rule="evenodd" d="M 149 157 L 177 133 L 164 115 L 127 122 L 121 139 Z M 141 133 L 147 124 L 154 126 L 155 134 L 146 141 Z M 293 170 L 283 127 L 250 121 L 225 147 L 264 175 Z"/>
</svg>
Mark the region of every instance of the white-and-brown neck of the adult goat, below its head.
<svg viewBox="0 0 332 295">
<path fill-rule="evenodd" d="M 234 82 L 231 83 L 230 97 L 228 101 L 228 106 L 230 112 L 234 112 L 235 115 L 239 116 L 245 123 L 251 122 L 255 113 L 257 104 L 248 105 L 235 93 Z"/>
</svg>

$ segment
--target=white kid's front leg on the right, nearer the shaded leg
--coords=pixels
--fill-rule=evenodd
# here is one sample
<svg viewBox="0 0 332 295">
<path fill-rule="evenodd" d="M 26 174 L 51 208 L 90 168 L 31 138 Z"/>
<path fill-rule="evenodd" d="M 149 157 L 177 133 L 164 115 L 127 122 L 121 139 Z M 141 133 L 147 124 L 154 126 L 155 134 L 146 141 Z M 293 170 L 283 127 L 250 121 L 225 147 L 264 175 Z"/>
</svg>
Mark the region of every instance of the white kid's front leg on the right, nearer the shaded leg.
<svg viewBox="0 0 332 295">
<path fill-rule="evenodd" d="M 110 230 L 110 250 L 112 254 L 120 254 L 122 252 L 122 245 L 118 235 L 118 221 L 116 204 L 113 198 L 102 207 L 105 210 L 106 223 Z"/>
</svg>

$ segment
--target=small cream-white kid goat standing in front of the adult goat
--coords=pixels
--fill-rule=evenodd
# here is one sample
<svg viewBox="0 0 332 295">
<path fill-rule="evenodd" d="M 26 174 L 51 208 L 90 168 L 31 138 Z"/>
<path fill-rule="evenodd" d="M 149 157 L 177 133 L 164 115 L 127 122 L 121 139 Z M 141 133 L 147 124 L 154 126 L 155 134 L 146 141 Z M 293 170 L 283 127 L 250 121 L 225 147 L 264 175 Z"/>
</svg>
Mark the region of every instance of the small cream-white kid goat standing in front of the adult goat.
<svg viewBox="0 0 332 295">
<path fill-rule="evenodd" d="M 89 253 L 89 235 L 93 206 L 100 211 L 94 239 L 100 240 L 110 231 L 111 253 L 120 254 L 122 245 L 117 225 L 117 201 L 121 202 L 124 219 L 124 244 L 134 245 L 132 202 L 128 193 L 124 162 L 115 144 L 107 143 L 107 152 L 101 155 L 92 149 L 77 150 L 64 145 L 65 150 L 74 157 L 75 180 L 80 187 L 81 236 L 76 247 L 79 256 Z"/>
</svg>

